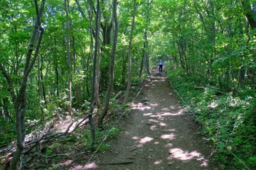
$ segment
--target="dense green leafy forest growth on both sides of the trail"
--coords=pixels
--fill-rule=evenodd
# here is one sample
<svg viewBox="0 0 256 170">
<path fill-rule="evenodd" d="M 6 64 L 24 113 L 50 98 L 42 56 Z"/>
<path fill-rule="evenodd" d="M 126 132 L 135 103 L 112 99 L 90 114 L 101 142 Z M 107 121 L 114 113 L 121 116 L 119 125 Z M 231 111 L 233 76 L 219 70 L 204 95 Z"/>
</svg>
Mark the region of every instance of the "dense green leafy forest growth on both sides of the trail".
<svg viewBox="0 0 256 170">
<path fill-rule="evenodd" d="M 90 107 L 93 59 L 97 57 L 94 55 L 97 2 L 46 0 L 42 19 L 38 17 L 41 2 L 44 1 L 0 1 L 0 148 L 11 145 L 17 137 L 15 123 L 23 106 L 27 134 L 48 122 L 76 119 L 88 113 Z M 107 0 L 98 2 L 102 11 L 98 88 L 103 104 L 110 82 L 111 59 L 114 59 L 111 96 L 125 90 L 128 83 L 133 2 L 121 0 L 116 6 L 115 56 L 110 54 L 114 43 L 113 4 Z M 159 59 L 168 64 L 166 68 L 170 70 L 174 88 L 179 89 L 186 105 L 193 108 L 198 120 L 207 127 L 202 132 L 208 133 L 207 139 L 212 140 L 216 152 L 215 160 L 222 161 L 223 168 L 230 161 L 242 167 L 230 151 L 249 167 L 256 168 L 254 9 L 254 0 L 136 1 L 132 84 L 149 74 L 150 66 Z M 38 26 L 37 32 L 33 32 L 34 25 Z M 31 53 L 36 62 L 25 81 L 26 68 L 31 63 L 27 56 L 33 33 L 36 36 Z M 36 54 L 41 35 L 43 39 Z M 18 98 L 22 94 L 23 82 L 26 82 L 26 101 L 18 100 L 22 102 L 18 106 L 14 96 Z M 194 85 L 204 89 L 195 89 Z M 68 108 L 72 108 L 72 114 L 68 114 Z"/>
</svg>

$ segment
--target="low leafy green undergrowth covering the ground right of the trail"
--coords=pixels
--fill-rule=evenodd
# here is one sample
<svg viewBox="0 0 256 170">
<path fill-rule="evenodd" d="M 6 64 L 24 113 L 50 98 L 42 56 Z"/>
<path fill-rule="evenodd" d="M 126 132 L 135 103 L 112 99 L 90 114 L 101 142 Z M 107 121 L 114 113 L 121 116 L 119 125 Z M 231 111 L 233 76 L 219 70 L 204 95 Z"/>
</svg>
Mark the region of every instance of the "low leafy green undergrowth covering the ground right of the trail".
<svg viewBox="0 0 256 170">
<path fill-rule="evenodd" d="M 248 88 L 234 97 L 220 93 L 217 86 L 195 89 L 195 82 L 180 69 L 168 70 L 167 74 L 188 114 L 192 111 L 198 117 L 196 121 L 205 126 L 198 133 L 212 142 L 212 159 L 220 168 L 256 169 L 255 92 Z"/>
</svg>

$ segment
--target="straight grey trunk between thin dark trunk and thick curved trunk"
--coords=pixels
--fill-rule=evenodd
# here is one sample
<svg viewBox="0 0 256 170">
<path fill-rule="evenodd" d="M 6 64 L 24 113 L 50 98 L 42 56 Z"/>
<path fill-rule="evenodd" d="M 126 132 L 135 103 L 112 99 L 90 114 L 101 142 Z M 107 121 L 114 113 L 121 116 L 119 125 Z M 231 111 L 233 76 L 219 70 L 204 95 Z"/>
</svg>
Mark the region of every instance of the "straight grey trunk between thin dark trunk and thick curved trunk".
<svg viewBox="0 0 256 170">
<path fill-rule="evenodd" d="M 95 73 L 95 104 L 99 107 L 99 109 L 102 109 L 102 105 L 100 103 L 100 57 L 101 57 L 101 49 L 100 49 L 100 21 L 101 21 L 101 11 L 100 8 L 99 14 L 98 14 L 98 30 L 97 30 L 97 37 L 95 37 L 95 41 L 97 41 L 97 50 L 98 50 L 98 56 L 97 56 L 97 66 L 96 66 L 96 73 Z"/>
</svg>

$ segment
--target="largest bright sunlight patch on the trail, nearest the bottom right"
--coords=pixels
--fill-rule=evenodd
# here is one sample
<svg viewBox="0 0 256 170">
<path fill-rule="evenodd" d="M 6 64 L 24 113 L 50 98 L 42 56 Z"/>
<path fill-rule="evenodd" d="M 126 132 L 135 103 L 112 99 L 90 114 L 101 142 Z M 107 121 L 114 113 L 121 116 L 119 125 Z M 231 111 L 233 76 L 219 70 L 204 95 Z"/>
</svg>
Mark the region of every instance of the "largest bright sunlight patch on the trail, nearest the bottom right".
<svg viewBox="0 0 256 170">
<path fill-rule="evenodd" d="M 199 157 L 201 154 L 197 152 L 196 150 L 193 152 L 184 151 L 180 148 L 174 148 L 169 150 L 170 156 L 168 156 L 168 159 L 179 159 L 179 160 L 190 160 L 194 157 Z"/>
</svg>

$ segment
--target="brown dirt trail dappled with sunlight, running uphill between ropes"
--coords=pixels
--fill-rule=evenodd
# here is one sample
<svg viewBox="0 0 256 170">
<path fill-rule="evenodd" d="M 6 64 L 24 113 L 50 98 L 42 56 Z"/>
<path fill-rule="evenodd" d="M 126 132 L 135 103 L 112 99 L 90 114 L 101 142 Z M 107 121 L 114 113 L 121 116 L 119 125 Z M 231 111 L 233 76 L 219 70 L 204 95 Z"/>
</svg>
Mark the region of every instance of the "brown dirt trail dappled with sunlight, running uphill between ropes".
<svg viewBox="0 0 256 170">
<path fill-rule="evenodd" d="M 107 170 L 210 170 L 194 118 L 185 113 L 164 72 L 153 70 L 136 98 L 117 145 L 94 160 Z M 107 164 L 104 164 L 107 163 Z M 111 164 L 113 163 L 113 164 Z"/>
</svg>

